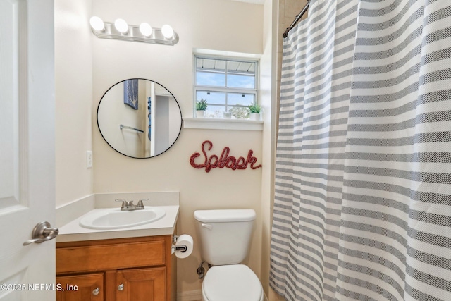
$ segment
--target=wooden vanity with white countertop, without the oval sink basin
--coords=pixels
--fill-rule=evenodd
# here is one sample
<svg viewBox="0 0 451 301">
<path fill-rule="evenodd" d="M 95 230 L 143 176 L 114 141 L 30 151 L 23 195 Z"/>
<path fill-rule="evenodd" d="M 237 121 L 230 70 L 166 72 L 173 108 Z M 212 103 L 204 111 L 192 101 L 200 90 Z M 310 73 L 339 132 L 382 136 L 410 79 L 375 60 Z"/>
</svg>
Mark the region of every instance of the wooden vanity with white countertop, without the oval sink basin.
<svg viewBox="0 0 451 301">
<path fill-rule="evenodd" d="M 80 226 L 86 216 L 111 211 L 96 206 L 60 227 L 56 238 L 56 300 L 175 300 L 176 257 L 171 247 L 179 206 L 177 202 L 158 207 L 166 214 L 139 226 Z"/>
</svg>

